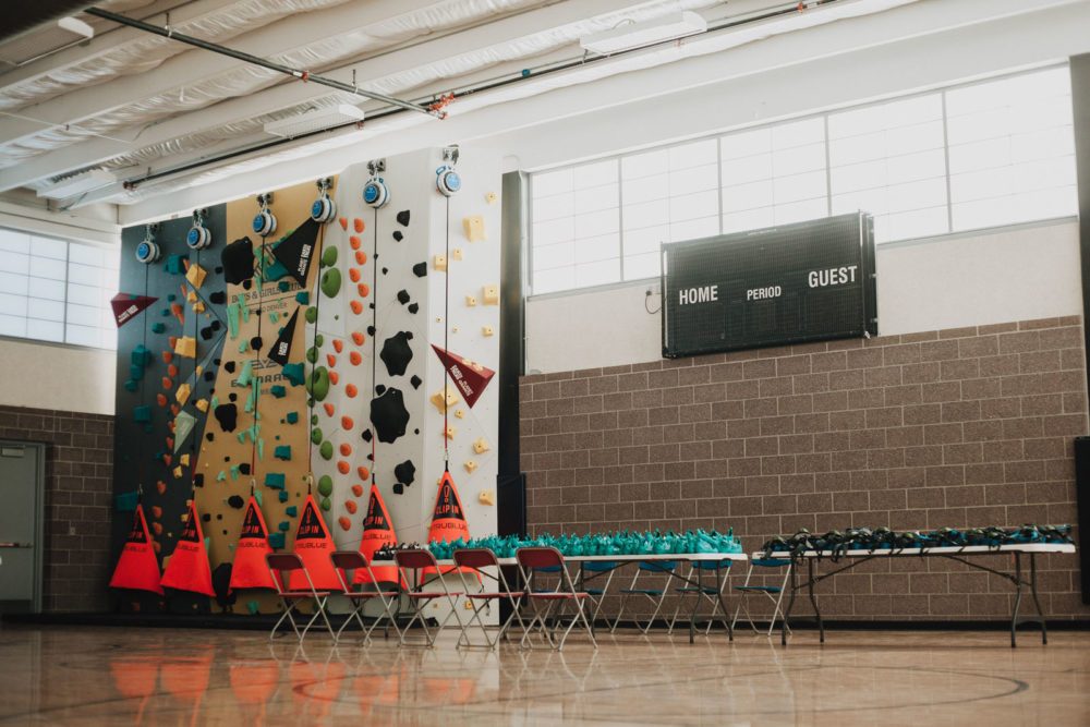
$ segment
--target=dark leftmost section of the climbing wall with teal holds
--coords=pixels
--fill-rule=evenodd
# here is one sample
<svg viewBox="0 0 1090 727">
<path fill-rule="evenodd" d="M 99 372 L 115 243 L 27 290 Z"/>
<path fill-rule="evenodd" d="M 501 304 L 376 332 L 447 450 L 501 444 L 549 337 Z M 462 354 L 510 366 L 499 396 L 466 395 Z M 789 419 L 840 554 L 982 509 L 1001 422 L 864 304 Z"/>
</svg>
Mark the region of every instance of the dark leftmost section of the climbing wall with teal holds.
<svg viewBox="0 0 1090 727">
<path fill-rule="evenodd" d="M 119 292 L 159 300 L 118 329 L 113 493 L 126 495 L 135 492 L 138 484 L 143 486 L 145 517 L 153 531 L 152 537 L 159 546 L 160 560 L 173 552 L 181 534 L 181 518 L 186 512 L 187 500 L 193 497 L 192 473 L 204 471 L 203 468 L 195 468 L 205 421 L 211 415 L 213 407 L 203 412 L 195 402 L 205 399 L 210 404 L 217 396 L 214 391 L 217 362 L 228 331 L 223 299 L 226 286 L 223 276 L 217 272 L 226 243 L 226 207 L 213 207 L 204 223 L 211 232 L 211 244 L 203 251 L 194 251 L 185 244 L 192 226 L 189 217 L 160 222 L 154 240 L 161 256 L 150 265 L 144 265 L 135 256 L 136 246 L 145 238 L 145 227 L 125 228 L 121 233 Z M 194 303 L 186 300 L 186 291 L 194 286 L 186 280 L 185 260 L 190 265 L 199 265 L 206 271 L 203 283 L 194 290 L 196 301 L 204 305 L 204 312 L 195 312 Z M 181 313 L 182 319 L 179 319 L 178 313 Z M 195 340 L 195 358 L 173 352 L 171 339 L 183 337 Z M 134 359 L 137 347 L 145 347 L 148 352 L 138 378 L 140 372 L 133 368 L 134 365 L 140 367 L 138 356 Z M 166 356 L 169 362 L 164 356 L 167 351 L 170 352 Z M 196 366 L 203 367 L 199 376 L 195 375 Z M 189 385 L 191 392 L 179 401 L 179 387 L 183 385 Z M 228 398 L 229 392 L 222 392 L 221 403 L 228 403 Z M 137 421 L 140 408 L 146 408 L 143 412 L 147 421 Z M 181 441 L 177 451 L 168 441 L 177 441 L 181 434 L 171 429 L 175 421 L 172 408 L 185 411 L 196 420 L 192 433 Z M 181 464 L 183 455 L 189 455 L 187 467 Z M 175 470 L 179 467 L 181 470 Z M 175 476 L 179 472 L 180 475 Z M 131 512 L 114 514 L 110 540 L 114 561 L 131 526 Z"/>
</svg>

